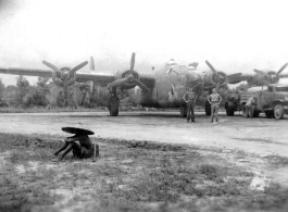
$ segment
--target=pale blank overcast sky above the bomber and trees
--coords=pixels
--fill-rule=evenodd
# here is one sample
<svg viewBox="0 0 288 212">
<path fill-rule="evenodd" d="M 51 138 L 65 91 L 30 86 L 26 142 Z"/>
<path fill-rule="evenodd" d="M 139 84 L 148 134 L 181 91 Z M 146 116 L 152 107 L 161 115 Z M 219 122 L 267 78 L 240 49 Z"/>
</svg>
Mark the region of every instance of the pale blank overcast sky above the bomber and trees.
<svg viewBox="0 0 288 212">
<path fill-rule="evenodd" d="M 227 73 L 288 62 L 285 1 L 0 2 L 0 66 L 74 66 L 92 55 L 97 71 L 116 72 L 129 67 L 132 52 L 140 73 L 172 58 L 201 71 L 209 60 Z M 0 78 L 15 84 L 15 76 Z"/>
</svg>

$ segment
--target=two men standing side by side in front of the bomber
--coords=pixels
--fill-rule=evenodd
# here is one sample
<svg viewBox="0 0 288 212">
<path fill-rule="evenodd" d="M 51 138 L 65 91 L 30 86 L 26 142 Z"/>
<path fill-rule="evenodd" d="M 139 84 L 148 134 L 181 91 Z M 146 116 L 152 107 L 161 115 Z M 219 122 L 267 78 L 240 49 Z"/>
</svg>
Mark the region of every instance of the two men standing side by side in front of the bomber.
<svg viewBox="0 0 288 212">
<path fill-rule="evenodd" d="M 197 101 L 196 92 L 192 88 L 189 88 L 188 91 L 183 97 L 184 101 L 187 104 L 187 122 L 195 122 L 195 104 Z M 216 119 L 218 122 L 218 108 L 222 101 L 222 97 L 217 93 L 217 90 L 213 88 L 212 93 L 208 97 L 208 101 L 211 104 L 211 123 Z"/>
</svg>

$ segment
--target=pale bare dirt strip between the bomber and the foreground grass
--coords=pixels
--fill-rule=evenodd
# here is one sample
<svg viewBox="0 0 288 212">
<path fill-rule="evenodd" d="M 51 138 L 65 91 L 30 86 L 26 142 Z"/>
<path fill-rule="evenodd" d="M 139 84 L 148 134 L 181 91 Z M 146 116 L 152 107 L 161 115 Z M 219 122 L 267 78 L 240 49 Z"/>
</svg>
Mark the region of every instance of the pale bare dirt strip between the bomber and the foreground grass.
<svg viewBox="0 0 288 212">
<path fill-rule="evenodd" d="M 89 113 L 5 113 L 0 114 L 1 133 L 49 134 L 67 136 L 63 126 L 82 123 L 95 136 L 128 140 L 190 144 L 201 147 L 238 149 L 260 155 L 288 157 L 288 119 L 276 121 L 261 116 L 247 120 L 224 113 L 220 123 L 210 123 L 197 113 L 196 123 L 186 123 L 177 112 L 121 112 L 117 117 L 107 112 Z"/>
</svg>

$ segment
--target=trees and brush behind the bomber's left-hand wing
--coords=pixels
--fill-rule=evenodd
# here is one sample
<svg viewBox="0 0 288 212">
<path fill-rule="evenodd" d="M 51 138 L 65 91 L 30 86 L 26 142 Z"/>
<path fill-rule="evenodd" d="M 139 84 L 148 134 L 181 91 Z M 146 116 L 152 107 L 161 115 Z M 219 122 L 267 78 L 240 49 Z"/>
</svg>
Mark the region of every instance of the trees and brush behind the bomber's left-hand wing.
<svg viewBox="0 0 288 212">
<path fill-rule="evenodd" d="M 4 86 L 0 79 L 0 104 L 15 108 L 64 108 L 63 88 L 54 85 L 50 78 L 38 77 L 36 85 L 30 85 L 24 76 L 16 78 L 16 85 Z M 74 84 L 68 88 L 68 107 L 105 107 L 109 91 L 96 87 L 92 95 L 87 84 Z"/>
</svg>

